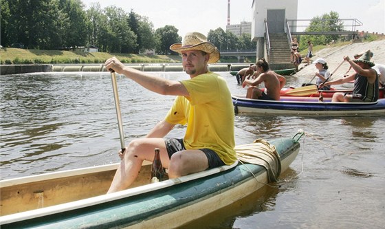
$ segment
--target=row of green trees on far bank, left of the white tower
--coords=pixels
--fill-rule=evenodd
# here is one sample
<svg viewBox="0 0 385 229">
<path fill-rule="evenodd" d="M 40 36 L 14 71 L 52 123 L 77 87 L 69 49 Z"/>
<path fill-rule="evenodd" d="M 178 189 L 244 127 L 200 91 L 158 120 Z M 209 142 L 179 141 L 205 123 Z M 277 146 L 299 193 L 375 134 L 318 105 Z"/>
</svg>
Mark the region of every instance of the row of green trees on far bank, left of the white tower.
<svg viewBox="0 0 385 229">
<path fill-rule="evenodd" d="M 170 45 L 181 43 L 173 25 L 154 30 L 147 17 L 133 10 L 101 8 L 99 3 L 85 10 L 80 0 L 2 0 L 0 23 L 3 47 L 61 50 L 94 45 L 100 52 L 171 54 Z M 255 47 L 250 34 L 236 36 L 221 28 L 210 30 L 208 39 L 220 50 Z"/>
</svg>

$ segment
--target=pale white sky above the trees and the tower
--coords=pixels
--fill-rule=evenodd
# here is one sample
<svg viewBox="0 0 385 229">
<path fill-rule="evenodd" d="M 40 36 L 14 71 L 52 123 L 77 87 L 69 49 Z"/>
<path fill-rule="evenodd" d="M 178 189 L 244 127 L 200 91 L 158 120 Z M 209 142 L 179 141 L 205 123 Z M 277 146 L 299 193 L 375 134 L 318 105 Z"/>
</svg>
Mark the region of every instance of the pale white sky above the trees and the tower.
<svg viewBox="0 0 385 229">
<path fill-rule="evenodd" d="M 131 9 L 148 17 L 154 29 L 173 25 L 179 36 L 197 31 L 205 35 L 210 30 L 225 30 L 228 18 L 227 0 L 81 0 L 86 9 L 91 3 L 100 3 L 101 8 L 116 6 L 125 12 Z M 290 0 L 287 0 L 290 1 Z M 230 23 L 252 21 L 252 0 L 232 0 Z M 357 30 L 385 34 L 385 0 L 298 0 L 298 19 L 313 19 L 322 14 L 338 12 L 340 19 L 358 19 L 363 23 Z"/>
</svg>

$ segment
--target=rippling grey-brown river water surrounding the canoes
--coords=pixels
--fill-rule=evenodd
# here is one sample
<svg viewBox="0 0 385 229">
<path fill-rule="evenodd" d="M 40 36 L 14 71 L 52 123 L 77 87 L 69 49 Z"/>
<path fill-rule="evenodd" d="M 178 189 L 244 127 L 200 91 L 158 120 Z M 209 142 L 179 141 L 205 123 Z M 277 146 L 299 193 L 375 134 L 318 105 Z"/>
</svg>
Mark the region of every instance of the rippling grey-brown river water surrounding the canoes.
<svg viewBox="0 0 385 229">
<path fill-rule="evenodd" d="M 234 76 L 220 74 L 232 94 L 245 94 Z M 162 72 L 159 77 L 188 78 L 182 72 Z M 123 76 L 117 80 L 128 143 L 162 120 L 175 97 L 146 91 Z M 287 82 L 298 86 L 295 76 Z M 0 101 L 1 179 L 119 162 L 109 73 L 0 76 Z M 307 134 L 300 140 L 300 154 L 277 184 L 192 225 L 380 228 L 385 223 L 384 127 L 379 116 L 237 115 L 236 144 L 292 138 L 303 129 Z M 177 126 L 169 136 L 180 137 L 184 131 Z"/>
</svg>

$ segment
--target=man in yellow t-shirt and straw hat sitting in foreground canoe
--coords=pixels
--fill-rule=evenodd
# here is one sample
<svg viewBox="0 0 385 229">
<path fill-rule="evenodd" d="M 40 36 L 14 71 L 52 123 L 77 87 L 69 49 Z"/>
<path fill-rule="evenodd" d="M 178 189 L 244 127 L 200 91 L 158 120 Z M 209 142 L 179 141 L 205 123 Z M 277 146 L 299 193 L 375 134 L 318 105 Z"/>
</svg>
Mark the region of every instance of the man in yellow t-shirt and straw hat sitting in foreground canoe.
<svg viewBox="0 0 385 229">
<path fill-rule="evenodd" d="M 152 161 L 160 149 L 168 177 L 197 173 L 236 161 L 234 151 L 234 107 L 227 82 L 208 71 L 208 63 L 219 60 L 219 51 L 206 36 L 190 32 L 183 42 L 170 46 L 182 57 L 189 80 L 168 80 L 124 66 L 117 58 L 106 61 L 107 69 L 124 74 L 142 87 L 162 95 L 177 96 L 164 120 L 146 135 L 119 152 L 122 162 L 113 177 L 109 193 L 128 188 L 140 171 L 143 160 Z M 186 124 L 184 138 L 164 137 L 175 127 Z"/>
</svg>

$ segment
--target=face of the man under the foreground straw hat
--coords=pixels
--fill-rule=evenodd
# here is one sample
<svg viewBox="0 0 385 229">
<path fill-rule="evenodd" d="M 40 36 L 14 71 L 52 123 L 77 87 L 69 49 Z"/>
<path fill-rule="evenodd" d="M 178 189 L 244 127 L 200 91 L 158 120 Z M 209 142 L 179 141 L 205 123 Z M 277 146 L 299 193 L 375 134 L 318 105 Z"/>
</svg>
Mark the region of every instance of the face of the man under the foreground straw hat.
<svg viewBox="0 0 385 229">
<path fill-rule="evenodd" d="M 203 54 L 199 50 L 181 52 L 184 71 L 190 76 L 206 73 L 208 58 L 208 54 Z"/>
</svg>

